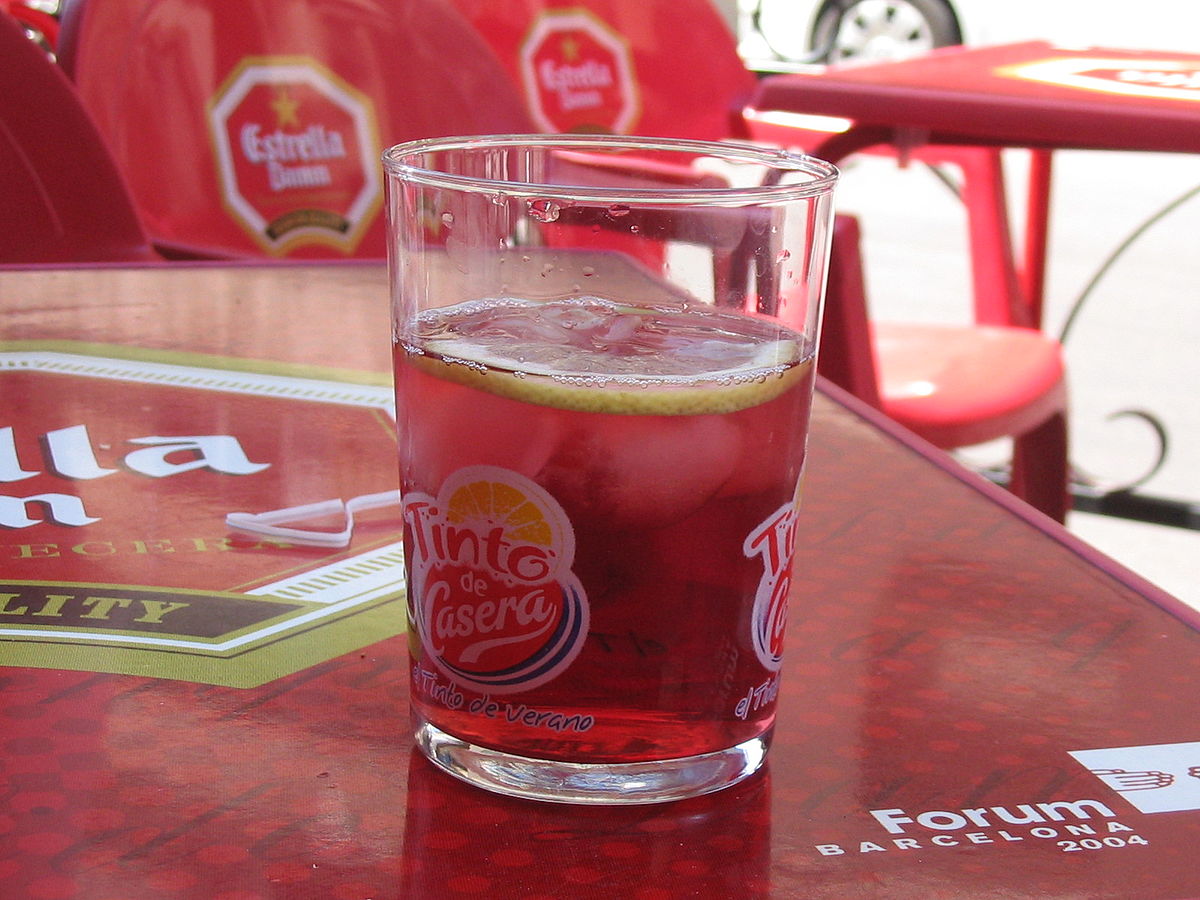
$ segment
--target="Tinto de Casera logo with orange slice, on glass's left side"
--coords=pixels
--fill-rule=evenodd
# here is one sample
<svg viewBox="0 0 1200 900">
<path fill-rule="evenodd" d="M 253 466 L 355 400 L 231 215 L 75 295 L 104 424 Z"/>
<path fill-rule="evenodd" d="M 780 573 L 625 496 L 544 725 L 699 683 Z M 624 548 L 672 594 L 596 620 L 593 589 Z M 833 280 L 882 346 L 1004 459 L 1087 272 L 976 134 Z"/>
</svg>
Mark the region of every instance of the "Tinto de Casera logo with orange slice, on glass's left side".
<svg viewBox="0 0 1200 900">
<path fill-rule="evenodd" d="M 575 532 L 558 502 L 509 469 L 469 466 L 437 498 L 404 498 L 409 618 L 460 685 L 511 694 L 578 655 L 588 602 L 571 571 Z"/>
</svg>

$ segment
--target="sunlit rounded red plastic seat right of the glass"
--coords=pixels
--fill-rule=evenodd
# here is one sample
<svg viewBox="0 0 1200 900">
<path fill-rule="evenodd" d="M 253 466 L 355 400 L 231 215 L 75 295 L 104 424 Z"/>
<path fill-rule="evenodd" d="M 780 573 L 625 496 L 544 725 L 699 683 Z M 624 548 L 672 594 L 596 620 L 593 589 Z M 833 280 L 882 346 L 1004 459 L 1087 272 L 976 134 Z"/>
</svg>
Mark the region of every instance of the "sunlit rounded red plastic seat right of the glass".
<svg viewBox="0 0 1200 900">
<path fill-rule="evenodd" d="M 1062 347 L 1032 329 L 877 323 L 880 403 L 940 448 L 1022 434 L 1066 406 Z"/>
</svg>

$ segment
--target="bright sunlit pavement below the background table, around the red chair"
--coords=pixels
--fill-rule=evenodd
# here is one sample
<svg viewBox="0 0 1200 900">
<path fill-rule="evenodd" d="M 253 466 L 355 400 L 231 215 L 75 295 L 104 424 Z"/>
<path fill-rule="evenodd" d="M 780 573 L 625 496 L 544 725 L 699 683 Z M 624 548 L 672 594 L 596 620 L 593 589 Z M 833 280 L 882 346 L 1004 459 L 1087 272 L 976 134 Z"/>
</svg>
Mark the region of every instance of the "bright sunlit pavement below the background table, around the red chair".
<svg viewBox="0 0 1200 900">
<path fill-rule="evenodd" d="M 1006 151 L 1020 197 L 1024 156 Z M 1072 463 L 1103 484 L 1153 468 L 1154 431 L 1168 436 L 1163 464 L 1140 492 L 1200 503 L 1200 161 L 1194 156 L 1060 152 L 1055 157 L 1045 328 L 1066 337 Z M 1182 202 L 1181 202 L 1182 199 Z M 1178 203 L 1160 218 L 1164 209 Z M 862 217 L 871 314 L 881 319 L 971 320 L 964 211 L 922 166 L 856 157 L 844 166 L 838 205 Z M 1014 223 L 1021 221 L 1014 204 Z M 1140 236 L 1098 283 L 1121 245 Z M 973 448 L 986 464 L 1007 448 Z M 1072 512 L 1068 529 L 1181 600 L 1200 608 L 1200 530 Z"/>
</svg>

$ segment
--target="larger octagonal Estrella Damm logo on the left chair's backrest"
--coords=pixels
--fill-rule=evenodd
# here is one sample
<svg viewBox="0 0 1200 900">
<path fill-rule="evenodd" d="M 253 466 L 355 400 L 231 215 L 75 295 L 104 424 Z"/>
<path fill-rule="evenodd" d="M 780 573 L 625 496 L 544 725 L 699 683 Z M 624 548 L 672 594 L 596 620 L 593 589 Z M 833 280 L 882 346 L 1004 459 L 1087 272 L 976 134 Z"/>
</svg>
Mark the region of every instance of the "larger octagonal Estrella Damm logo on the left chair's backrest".
<svg viewBox="0 0 1200 900">
<path fill-rule="evenodd" d="M 354 250 L 383 196 L 366 96 L 312 60 L 250 58 L 218 89 L 209 126 L 226 206 L 258 244 Z"/>
</svg>

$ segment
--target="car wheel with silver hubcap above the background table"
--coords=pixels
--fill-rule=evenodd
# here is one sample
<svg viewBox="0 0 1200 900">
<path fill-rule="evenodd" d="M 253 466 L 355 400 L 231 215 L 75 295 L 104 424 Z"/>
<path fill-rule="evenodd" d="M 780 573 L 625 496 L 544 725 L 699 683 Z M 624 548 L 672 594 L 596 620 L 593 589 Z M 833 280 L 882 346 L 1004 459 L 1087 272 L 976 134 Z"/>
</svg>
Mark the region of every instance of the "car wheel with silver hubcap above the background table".
<svg viewBox="0 0 1200 900">
<path fill-rule="evenodd" d="M 812 26 L 827 62 L 905 59 L 961 41 L 943 0 L 829 0 Z"/>
</svg>

